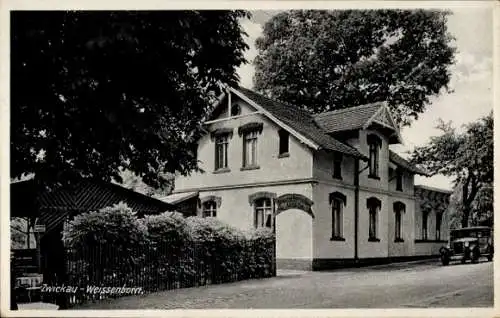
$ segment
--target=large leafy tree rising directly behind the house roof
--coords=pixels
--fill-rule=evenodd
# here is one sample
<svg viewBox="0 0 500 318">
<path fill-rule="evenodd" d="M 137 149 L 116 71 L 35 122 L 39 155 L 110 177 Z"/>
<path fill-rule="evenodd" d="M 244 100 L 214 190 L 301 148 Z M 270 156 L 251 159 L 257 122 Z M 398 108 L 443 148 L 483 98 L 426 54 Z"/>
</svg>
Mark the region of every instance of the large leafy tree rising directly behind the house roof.
<svg viewBox="0 0 500 318">
<path fill-rule="evenodd" d="M 288 11 L 256 41 L 255 89 L 314 113 L 387 101 L 409 125 L 448 89 L 447 12 Z"/>
</svg>

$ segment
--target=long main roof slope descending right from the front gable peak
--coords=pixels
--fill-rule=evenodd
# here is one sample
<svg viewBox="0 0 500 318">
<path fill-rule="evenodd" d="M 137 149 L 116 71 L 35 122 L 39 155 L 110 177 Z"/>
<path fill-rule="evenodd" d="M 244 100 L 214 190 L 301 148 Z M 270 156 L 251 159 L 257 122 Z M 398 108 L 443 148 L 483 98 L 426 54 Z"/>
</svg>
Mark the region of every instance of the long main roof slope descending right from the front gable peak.
<svg viewBox="0 0 500 318">
<path fill-rule="evenodd" d="M 310 141 L 310 145 L 343 154 L 366 159 L 357 149 L 336 140 L 329 136 L 314 121 L 311 113 L 300 109 L 297 106 L 285 104 L 281 101 L 270 99 L 246 88 L 230 89 L 236 95 L 247 99 L 254 107 L 263 110 L 264 114 L 270 115 L 282 124 L 283 128 L 289 128 L 297 132 L 300 136 Z M 269 116 L 268 116 L 269 117 Z M 283 125 L 284 124 L 284 125 Z"/>
</svg>

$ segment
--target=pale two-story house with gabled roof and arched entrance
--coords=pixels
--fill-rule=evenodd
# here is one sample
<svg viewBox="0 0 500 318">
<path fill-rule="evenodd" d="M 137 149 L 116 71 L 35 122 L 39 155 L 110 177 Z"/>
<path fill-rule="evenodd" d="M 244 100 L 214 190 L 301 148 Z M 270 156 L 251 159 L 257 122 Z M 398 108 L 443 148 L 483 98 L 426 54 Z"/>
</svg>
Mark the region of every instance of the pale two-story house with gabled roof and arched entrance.
<svg viewBox="0 0 500 318">
<path fill-rule="evenodd" d="M 204 172 L 176 178 L 176 202 L 198 196 L 200 216 L 273 229 L 281 268 L 431 256 L 447 238 L 449 193 L 414 185 L 425 172 L 389 149 L 402 140 L 384 103 L 312 115 L 229 88 L 205 125 Z"/>
</svg>

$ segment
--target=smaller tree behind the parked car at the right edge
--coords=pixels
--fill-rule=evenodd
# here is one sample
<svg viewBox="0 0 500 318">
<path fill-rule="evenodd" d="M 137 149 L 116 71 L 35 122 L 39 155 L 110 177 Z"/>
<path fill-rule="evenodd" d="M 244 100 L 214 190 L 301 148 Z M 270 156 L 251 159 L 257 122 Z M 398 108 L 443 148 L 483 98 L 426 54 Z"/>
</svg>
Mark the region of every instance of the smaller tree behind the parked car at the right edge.
<svg viewBox="0 0 500 318">
<path fill-rule="evenodd" d="M 460 197 L 456 206 L 461 226 L 467 227 L 471 213 L 477 215 L 484 208 L 492 211 L 485 198 L 489 195 L 492 202 L 493 113 L 467 125 L 464 132 L 442 121 L 438 128 L 443 133 L 431 137 L 427 145 L 416 147 L 411 161 L 431 175 L 454 178 L 455 194 Z"/>
</svg>

